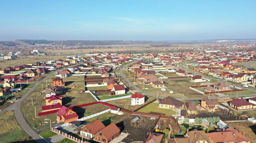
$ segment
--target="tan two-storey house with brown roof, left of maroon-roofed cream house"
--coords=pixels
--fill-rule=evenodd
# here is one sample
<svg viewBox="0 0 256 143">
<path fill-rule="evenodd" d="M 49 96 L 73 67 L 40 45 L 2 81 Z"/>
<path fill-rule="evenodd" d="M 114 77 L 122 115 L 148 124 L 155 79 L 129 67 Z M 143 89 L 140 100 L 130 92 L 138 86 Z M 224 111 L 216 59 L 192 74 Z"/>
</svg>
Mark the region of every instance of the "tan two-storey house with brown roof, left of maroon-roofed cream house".
<svg viewBox="0 0 256 143">
<path fill-rule="evenodd" d="M 210 112 L 213 112 L 219 109 L 219 102 L 217 99 L 201 99 L 201 107 L 207 109 Z"/>
</svg>

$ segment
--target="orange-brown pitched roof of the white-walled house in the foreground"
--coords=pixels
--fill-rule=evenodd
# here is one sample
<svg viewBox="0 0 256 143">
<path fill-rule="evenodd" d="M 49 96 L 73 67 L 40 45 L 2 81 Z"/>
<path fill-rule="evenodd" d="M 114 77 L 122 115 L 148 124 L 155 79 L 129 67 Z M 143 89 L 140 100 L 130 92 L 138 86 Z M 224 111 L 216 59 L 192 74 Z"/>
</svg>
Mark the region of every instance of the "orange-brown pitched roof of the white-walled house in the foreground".
<svg viewBox="0 0 256 143">
<path fill-rule="evenodd" d="M 105 125 L 100 121 L 100 119 L 95 120 L 94 122 L 86 125 L 81 131 L 84 131 L 84 129 L 87 129 L 87 131 L 91 134 L 95 134 L 101 129 L 103 129 Z"/>
</svg>

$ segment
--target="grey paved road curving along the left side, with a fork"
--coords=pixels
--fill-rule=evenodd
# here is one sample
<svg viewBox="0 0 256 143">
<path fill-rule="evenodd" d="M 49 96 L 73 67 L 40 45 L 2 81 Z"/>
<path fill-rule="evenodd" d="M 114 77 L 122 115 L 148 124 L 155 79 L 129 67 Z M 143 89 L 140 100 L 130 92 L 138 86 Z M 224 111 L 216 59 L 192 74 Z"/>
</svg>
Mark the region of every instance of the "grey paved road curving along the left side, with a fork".
<svg viewBox="0 0 256 143">
<path fill-rule="evenodd" d="M 30 135 L 34 140 L 36 140 L 36 142 L 39 143 L 49 143 L 49 141 L 45 140 L 44 138 L 42 138 L 40 135 L 38 135 L 36 133 L 36 131 L 34 131 L 26 122 L 26 120 L 23 118 L 21 110 L 20 110 L 20 104 L 22 103 L 22 101 L 24 99 L 26 99 L 26 97 L 31 94 L 34 89 L 39 86 L 43 81 L 45 81 L 47 78 L 49 78 L 51 75 L 53 75 L 54 73 L 50 73 L 49 75 L 47 75 L 46 77 L 44 77 L 43 79 L 41 79 L 40 81 L 38 81 L 30 90 L 28 90 L 28 92 L 26 94 L 24 94 L 17 102 L 15 102 L 13 105 L 7 107 L 6 109 L 3 109 L 2 111 L 0 111 L 0 114 L 9 111 L 9 110 L 14 110 L 15 111 L 15 116 L 16 119 L 18 121 L 18 123 L 20 124 L 20 126 L 24 129 L 24 131 L 26 131 L 26 133 L 28 133 L 28 135 Z"/>
</svg>

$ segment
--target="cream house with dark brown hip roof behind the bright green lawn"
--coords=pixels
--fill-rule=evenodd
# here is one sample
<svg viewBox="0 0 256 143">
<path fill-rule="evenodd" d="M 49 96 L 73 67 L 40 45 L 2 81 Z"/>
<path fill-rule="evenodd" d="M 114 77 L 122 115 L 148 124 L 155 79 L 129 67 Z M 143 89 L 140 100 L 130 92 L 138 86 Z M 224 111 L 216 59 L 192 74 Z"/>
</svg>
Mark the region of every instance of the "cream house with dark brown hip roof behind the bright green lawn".
<svg viewBox="0 0 256 143">
<path fill-rule="evenodd" d="M 159 102 L 159 108 L 164 108 L 164 109 L 182 109 L 183 107 L 183 102 L 167 96 Z"/>
</svg>

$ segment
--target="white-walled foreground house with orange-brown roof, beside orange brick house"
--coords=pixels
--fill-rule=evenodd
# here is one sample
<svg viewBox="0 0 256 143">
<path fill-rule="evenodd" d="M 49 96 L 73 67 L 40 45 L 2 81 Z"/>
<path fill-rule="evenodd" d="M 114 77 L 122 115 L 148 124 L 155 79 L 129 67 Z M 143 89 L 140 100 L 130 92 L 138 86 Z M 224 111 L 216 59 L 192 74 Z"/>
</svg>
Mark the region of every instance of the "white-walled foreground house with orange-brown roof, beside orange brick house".
<svg viewBox="0 0 256 143">
<path fill-rule="evenodd" d="M 85 125 L 80 130 L 80 135 L 86 138 L 94 138 L 94 135 L 103 129 L 105 125 L 100 121 L 100 119 L 95 120 L 94 122 Z"/>
</svg>

